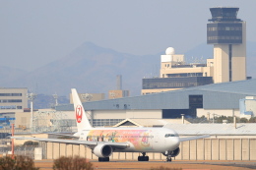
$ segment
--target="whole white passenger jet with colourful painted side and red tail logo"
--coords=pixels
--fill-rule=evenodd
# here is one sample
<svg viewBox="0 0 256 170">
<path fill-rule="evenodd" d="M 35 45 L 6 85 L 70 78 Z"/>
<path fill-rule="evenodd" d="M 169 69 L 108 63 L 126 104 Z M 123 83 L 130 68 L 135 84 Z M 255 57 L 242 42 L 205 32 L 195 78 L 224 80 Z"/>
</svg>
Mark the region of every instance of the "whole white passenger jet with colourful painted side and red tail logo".
<svg viewBox="0 0 256 170">
<path fill-rule="evenodd" d="M 179 138 L 178 134 L 169 128 L 93 128 L 87 118 L 85 109 L 77 90 L 71 89 L 74 101 L 74 113 L 78 132 L 73 137 L 78 140 L 41 139 L 12 137 L 17 140 L 32 140 L 40 142 L 62 142 L 84 144 L 90 147 L 98 157 L 98 161 L 109 161 L 113 152 L 140 152 L 138 161 L 149 161 L 148 152 L 160 152 L 166 156 L 166 161 L 179 154 L 180 142 L 209 138 L 210 136 L 195 136 Z"/>
</svg>

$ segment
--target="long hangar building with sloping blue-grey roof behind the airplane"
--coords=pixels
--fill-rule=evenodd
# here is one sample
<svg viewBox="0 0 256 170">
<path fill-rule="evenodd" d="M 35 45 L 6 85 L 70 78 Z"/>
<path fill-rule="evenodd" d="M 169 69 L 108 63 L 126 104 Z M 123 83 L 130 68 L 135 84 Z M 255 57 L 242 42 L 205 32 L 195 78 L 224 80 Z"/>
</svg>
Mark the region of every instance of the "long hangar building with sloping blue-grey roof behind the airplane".
<svg viewBox="0 0 256 170">
<path fill-rule="evenodd" d="M 256 99 L 256 79 L 84 102 L 83 105 L 94 121 L 110 118 L 114 125 L 117 119 L 119 122 L 127 118 L 169 119 L 180 118 L 181 114 L 185 117 L 239 116 L 239 102 L 248 96 L 251 100 Z M 69 104 L 57 106 L 56 110 L 72 111 L 74 108 Z M 250 113 L 255 116 L 256 111 Z"/>
</svg>

